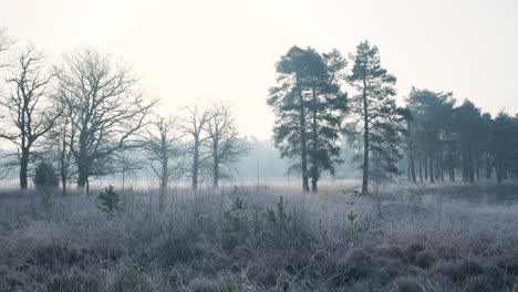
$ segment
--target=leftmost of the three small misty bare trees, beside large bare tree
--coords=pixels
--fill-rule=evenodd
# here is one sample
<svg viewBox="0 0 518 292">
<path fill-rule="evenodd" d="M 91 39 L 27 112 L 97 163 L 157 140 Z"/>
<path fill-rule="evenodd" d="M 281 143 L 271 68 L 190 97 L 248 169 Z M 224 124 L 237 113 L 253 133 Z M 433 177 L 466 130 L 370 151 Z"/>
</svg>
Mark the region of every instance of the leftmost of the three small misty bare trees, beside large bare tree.
<svg viewBox="0 0 518 292">
<path fill-rule="evenodd" d="M 146 129 L 144 149 L 151 168 L 159 180 L 159 211 L 163 211 L 164 197 L 170 179 L 180 175 L 180 166 L 173 166 L 172 159 L 182 156 L 177 118 L 157 116 Z"/>
</svg>

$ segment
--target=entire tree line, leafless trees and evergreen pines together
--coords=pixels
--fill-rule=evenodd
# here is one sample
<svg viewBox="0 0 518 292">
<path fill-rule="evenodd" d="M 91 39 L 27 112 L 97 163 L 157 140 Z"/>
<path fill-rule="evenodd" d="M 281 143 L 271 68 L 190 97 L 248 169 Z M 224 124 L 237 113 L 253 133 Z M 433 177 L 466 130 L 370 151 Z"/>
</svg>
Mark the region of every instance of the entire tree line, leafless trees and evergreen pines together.
<svg viewBox="0 0 518 292">
<path fill-rule="evenodd" d="M 87 192 L 97 177 L 121 173 L 124 180 L 145 164 L 163 198 L 180 178 L 195 190 L 209 179 L 218 187 L 249 152 L 229 104 L 200 100 L 160 115 L 159 100 L 142 90 L 131 64 L 92 48 L 51 64 L 2 30 L 0 72 L 0 138 L 17 149 L 3 170 L 18 169 L 21 189 L 37 163 L 58 170 L 63 192 L 70 181 Z M 457 105 L 452 93 L 417 88 L 398 106 L 396 77 L 367 41 L 349 58 L 294 45 L 276 72 L 267 98 L 276 114 L 272 144 L 303 191 L 317 192 L 324 173 L 335 175 L 345 146 L 356 149 L 363 194 L 373 180 L 400 176 L 405 154 L 414 182 L 518 178 L 518 116 L 493 117 L 467 100 Z"/>
</svg>

